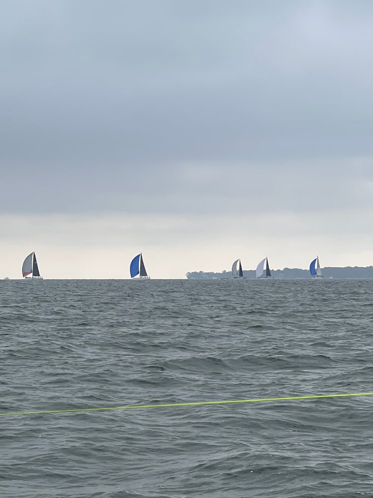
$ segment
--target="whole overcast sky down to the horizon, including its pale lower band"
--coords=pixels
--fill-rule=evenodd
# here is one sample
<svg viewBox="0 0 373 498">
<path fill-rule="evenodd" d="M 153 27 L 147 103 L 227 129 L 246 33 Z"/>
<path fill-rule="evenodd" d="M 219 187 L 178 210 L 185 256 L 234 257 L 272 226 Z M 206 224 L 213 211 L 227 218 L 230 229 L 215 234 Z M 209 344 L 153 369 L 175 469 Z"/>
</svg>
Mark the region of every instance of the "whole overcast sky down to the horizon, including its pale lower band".
<svg viewBox="0 0 373 498">
<path fill-rule="evenodd" d="M 373 264 L 371 0 L 8 0 L 0 277 Z"/>
</svg>

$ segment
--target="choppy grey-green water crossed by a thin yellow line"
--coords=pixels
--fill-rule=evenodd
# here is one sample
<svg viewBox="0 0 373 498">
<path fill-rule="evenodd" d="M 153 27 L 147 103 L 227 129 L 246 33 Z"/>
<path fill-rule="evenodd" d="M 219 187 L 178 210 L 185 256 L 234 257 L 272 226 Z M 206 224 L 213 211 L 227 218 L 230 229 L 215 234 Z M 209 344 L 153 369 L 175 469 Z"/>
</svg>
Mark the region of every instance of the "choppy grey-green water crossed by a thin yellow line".
<svg viewBox="0 0 373 498">
<path fill-rule="evenodd" d="M 373 281 L 0 282 L 0 412 L 373 391 Z M 373 396 L 0 417 L 0 496 L 373 495 Z"/>
</svg>

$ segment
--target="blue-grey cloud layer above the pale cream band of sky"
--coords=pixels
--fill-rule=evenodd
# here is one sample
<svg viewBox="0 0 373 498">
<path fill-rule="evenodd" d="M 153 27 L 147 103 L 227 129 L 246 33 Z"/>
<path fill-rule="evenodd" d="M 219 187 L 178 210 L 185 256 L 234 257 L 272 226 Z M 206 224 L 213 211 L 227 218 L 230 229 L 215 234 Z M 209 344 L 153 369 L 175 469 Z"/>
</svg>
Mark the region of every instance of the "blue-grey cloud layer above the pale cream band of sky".
<svg viewBox="0 0 373 498">
<path fill-rule="evenodd" d="M 231 3 L 5 4 L 1 210 L 372 206 L 372 3 Z"/>
</svg>

